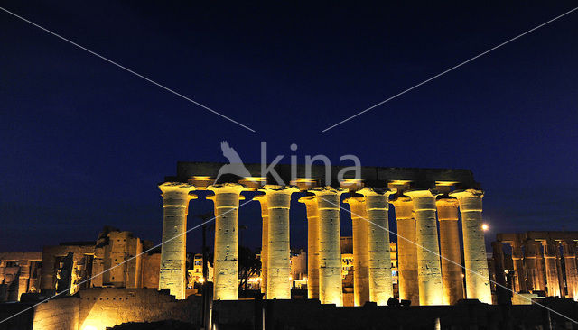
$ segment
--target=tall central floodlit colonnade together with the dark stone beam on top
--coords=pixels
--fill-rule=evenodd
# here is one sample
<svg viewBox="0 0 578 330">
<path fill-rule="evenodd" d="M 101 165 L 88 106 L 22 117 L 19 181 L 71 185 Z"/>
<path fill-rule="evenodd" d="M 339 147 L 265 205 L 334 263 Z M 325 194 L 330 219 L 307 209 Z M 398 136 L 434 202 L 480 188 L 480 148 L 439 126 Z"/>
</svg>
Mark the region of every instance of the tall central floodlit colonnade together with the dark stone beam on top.
<svg viewBox="0 0 578 330">
<path fill-rule="evenodd" d="M 360 178 L 344 176 L 339 180 L 338 173 L 343 170 L 339 167 L 330 171 L 322 166 L 292 170 L 289 165 L 278 165 L 276 178 L 263 178 L 261 166 L 249 164 L 250 177 L 221 176 L 214 182 L 222 165 L 180 162 L 177 175 L 159 186 L 166 242 L 161 252 L 159 289 L 169 289 L 176 298 L 185 298 L 186 218 L 189 207 L 194 207 L 191 199 L 197 198 L 193 192 L 203 190 L 212 192 L 207 198 L 214 202 L 216 215 L 213 298 L 238 298 L 238 208 L 239 201 L 245 199 L 241 193 L 253 190 L 263 193 L 255 199 L 262 207 L 262 289 L 266 299 L 291 298 L 289 208 L 292 194 L 301 191 L 306 192 L 299 201 L 307 208 L 309 298 L 342 305 L 340 196 L 349 194 L 345 202 L 351 209 L 353 260 L 358 269 L 354 279 L 356 306 L 368 301 L 386 305 L 394 297 L 387 230 L 390 197 L 399 235 L 399 298 L 422 306 L 452 304 L 461 298 L 492 302 L 481 229 L 483 192 L 471 171 L 364 167 Z M 280 185 L 279 181 L 288 184 Z M 463 266 L 467 269 L 465 288 L 459 212 Z"/>
</svg>

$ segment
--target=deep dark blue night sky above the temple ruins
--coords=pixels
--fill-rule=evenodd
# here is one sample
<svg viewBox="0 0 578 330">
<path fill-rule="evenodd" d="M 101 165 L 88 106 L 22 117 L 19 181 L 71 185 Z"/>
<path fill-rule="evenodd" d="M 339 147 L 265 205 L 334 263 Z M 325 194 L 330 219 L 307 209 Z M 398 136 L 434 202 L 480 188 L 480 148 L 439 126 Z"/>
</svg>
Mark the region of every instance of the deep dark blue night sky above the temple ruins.
<svg viewBox="0 0 578 330">
<path fill-rule="evenodd" d="M 322 133 L 575 2 L 0 6 L 256 130 L 0 11 L 0 252 L 95 240 L 104 225 L 159 243 L 156 185 L 178 160 L 227 161 L 224 140 L 246 162 L 266 141 L 269 160 L 471 169 L 488 241 L 578 230 L 578 11 Z M 305 246 L 304 206 L 292 207 L 292 245 Z M 192 201 L 189 226 L 208 211 Z M 258 245 L 258 203 L 239 225 Z M 188 242 L 199 251 L 200 231 Z"/>
</svg>

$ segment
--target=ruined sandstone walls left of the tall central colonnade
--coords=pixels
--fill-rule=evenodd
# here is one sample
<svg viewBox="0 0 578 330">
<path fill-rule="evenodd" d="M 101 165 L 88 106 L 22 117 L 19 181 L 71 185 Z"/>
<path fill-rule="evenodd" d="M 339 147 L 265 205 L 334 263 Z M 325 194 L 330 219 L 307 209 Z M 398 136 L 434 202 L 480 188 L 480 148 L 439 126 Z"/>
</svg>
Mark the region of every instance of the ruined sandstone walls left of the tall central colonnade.
<svg viewBox="0 0 578 330">
<path fill-rule="evenodd" d="M 157 289 L 161 254 L 143 253 L 152 246 L 130 232 L 105 227 L 97 241 L 0 253 L 0 302 L 17 301 L 27 293 L 50 297 L 101 287 Z"/>
</svg>

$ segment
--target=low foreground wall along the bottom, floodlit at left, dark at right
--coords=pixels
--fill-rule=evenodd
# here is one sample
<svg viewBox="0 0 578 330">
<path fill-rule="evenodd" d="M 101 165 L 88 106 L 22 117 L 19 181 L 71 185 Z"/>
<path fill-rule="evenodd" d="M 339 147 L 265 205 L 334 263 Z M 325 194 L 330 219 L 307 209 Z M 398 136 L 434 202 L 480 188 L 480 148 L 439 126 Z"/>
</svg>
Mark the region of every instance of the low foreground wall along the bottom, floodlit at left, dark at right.
<svg viewBox="0 0 578 330">
<path fill-rule="evenodd" d="M 571 299 L 545 298 L 540 304 L 574 319 L 578 315 L 578 303 Z M 0 316 L 31 306 L 0 304 Z M 199 326 L 200 310 L 200 297 L 195 296 L 174 300 L 154 289 L 87 289 L 74 297 L 42 303 L 34 314 L 31 309 L 0 324 L 0 330 L 104 330 L 123 323 L 164 320 Z M 433 329 L 437 322 L 443 329 L 578 329 L 570 320 L 537 305 L 492 306 L 475 301 L 430 307 L 334 307 L 318 300 L 215 301 L 213 322 L 219 330 L 261 330 L 264 324 L 266 329 L 294 330 Z"/>
</svg>

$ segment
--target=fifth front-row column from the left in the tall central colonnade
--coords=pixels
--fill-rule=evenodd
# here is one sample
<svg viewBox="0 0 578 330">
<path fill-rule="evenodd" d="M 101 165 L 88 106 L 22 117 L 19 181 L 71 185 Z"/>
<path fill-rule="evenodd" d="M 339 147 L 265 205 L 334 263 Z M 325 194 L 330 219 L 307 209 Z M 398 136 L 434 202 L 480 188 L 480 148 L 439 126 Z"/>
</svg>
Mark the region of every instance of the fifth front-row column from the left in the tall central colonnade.
<svg viewBox="0 0 578 330">
<path fill-rule="evenodd" d="M 362 188 L 368 223 L 369 257 L 369 301 L 386 306 L 394 297 L 389 252 L 389 195 L 394 191 L 378 192 L 373 188 Z M 354 260 L 355 261 L 355 260 Z"/>
</svg>

